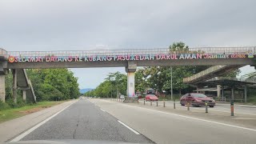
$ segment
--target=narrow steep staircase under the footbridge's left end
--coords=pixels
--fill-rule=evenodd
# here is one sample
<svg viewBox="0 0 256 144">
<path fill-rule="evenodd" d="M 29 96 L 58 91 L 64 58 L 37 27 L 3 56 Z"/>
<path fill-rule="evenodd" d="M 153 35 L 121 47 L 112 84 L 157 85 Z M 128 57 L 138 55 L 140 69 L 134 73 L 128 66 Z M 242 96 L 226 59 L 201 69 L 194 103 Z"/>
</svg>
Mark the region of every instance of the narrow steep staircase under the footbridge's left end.
<svg viewBox="0 0 256 144">
<path fill-rule="evenodd" d="M 27 102 L 36 102 L 34 89 L 29 78 L 27 78 L 25 69 L 16 69 L 17 73 L 17 86 L 18 89 L 23 91 L 23 100 Z"/>
</svg>

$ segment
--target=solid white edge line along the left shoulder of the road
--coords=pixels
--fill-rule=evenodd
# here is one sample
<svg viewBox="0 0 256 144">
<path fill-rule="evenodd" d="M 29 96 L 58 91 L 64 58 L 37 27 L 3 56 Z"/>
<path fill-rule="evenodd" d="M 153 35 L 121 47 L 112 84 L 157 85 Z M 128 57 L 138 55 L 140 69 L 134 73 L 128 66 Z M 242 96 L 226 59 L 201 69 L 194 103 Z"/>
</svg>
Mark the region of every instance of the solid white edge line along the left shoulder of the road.
<svg viewBox="0 0 256 144">
<path fill-rule="evenodd" d="M 69 106 L 71 106 L 72 104 L 74 104 L 74 103 L 71 103 Z M 26 137 L 27 134 L 30 134 L 32 131 L 36 130 L 39 126 L 42 126 L 43 124 L 48 122 L 51 118 L 54 118 L 56 115 L 61 113 L 63 110 L 65 110 L 69 106 L 66 106 L 64 109 L 58 111 L 57 113 L 55 113 L 54 115 L 50 116 L 49 118 L 46 118 L 44 121 L 42 121 L 42 122 L 38 123 L 36 126 L 30 128 L 30 130 L 26 130 L 24 133 L 18 135 L 18 137 L 14 138 L 10 142 L 18 142 L 18 141 L 20 141 L 22 138 Z"/>
</svg>

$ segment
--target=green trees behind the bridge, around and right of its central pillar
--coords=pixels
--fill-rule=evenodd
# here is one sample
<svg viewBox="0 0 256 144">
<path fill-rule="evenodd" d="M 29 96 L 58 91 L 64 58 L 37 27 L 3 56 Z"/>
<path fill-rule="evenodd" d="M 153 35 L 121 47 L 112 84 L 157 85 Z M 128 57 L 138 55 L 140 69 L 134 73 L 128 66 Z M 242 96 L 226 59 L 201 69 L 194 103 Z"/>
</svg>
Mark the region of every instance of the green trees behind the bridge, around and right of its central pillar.
<svg viewBox="0 0 256 144">
<path fill-rule="evenodd" d="M 169 46 L 169 49 L 170 52 L 188 52 L 189 46 L 186 46 L 183 42 L 174 42 Z M 186 94 L 195 88 L 183 83 L 183 78 L 190 77 L 209 67 L 210 66 L 146 66 L 138 68 L 135 72 L 135 90 L 142 94 L 146 92 L 146 89 L 151 88 L 157 90 L 159 95 L 162 95 L 163 91 L 166 92 L 165 94 L 170 94 L 172 77 L 174 93 L 179 95 Z M 234 78 L 239 73 L 240 70 L 238 69 L 229 74 L 225 74 L 224 76 Z M 95 90 L 90 90 L 85 95 L 110 98 L 112 94 L 112 96 L 116 98 L 117 94 L 126 95 L 126 87 L 126 74 L 116 72 L 114 74 L 109 74 L 105 81 L 97 86 Z"/>
</svg>

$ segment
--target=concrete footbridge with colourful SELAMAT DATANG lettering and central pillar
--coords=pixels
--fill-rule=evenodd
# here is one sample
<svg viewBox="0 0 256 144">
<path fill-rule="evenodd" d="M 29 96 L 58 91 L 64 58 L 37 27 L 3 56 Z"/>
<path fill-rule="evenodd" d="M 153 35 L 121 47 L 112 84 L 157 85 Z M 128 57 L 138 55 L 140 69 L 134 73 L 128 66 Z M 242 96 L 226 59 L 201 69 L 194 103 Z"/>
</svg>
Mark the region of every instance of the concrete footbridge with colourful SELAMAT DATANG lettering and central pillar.
<svg viewBox="0 0 256 144">
<path fill-rule="evenodd" d="M 4 75 L 7 70 L 126 67 L 127 95 L 132 98 L 134 97 L 134 72 L 137 66 L 254 66 L 255 50 L 255 46 L 199 47 L 182 51 L 169 48 L 58 51 L 0 49 L 0 98 L 2 101 L 5 99 Z M 14 85 L 16 87 L 17 83 Z"/>
</svg>

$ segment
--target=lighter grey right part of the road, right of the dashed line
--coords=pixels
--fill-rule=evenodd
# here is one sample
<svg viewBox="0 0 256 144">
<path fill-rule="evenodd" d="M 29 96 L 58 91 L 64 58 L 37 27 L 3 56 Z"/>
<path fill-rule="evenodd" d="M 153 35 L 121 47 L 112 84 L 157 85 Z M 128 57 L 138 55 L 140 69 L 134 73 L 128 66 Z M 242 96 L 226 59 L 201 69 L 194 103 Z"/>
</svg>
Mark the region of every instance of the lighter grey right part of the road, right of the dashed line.
<svg viewBox="0 0 256 144">
<path fill-rule="evenodd" d="M 181 115 L 159 111 L 163 109 L 161 107 L 150 109 L 143 105 L 102 99 L 90 99 L 90 102 L 156 143 L 256 143 L 256 129 L 226 124 L 218 115 L 219 120 L 206 120 L 194 118 L 193 113 Z"/>
</svg>

